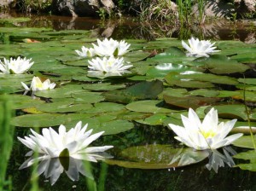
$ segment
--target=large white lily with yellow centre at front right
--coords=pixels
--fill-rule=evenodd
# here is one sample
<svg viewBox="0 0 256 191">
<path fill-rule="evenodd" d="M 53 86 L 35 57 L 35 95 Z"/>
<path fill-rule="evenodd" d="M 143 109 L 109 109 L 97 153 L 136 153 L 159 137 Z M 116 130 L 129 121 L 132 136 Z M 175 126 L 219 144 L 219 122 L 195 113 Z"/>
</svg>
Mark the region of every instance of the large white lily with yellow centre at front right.
<svg viewBox="0 0 256 191">
<path fill-rule="evenodd" d="M 191 108 L 189 108 L 189 118 L 183 115 L 181 117 L 184 127 L 176 124 L 169 124 L 169 126 L 177 134 L 175 138 L 178 141 L 196 150 L 221 148 L 230 145 L 242 136 L 241 133 L 227 136 L 236 123 L 236 119 L 218 124 L 218 111 L 214 108 L 207 113 L 202 123 Z"/>
</svg>

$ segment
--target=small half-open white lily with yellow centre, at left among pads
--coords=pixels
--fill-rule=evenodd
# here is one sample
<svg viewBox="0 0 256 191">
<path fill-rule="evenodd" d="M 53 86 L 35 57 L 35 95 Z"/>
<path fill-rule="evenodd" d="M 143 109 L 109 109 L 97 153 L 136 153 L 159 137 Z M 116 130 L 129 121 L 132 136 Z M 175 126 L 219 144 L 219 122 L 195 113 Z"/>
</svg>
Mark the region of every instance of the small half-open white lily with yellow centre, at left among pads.
<svg viewBox="0 0 256 191">
<path fill-rule="evenodd" d="M 49 90 L 55 88 L 55 83 L 50 83 L 49 79 L 44 80 L 44 82 L 41 81 L 38 77 L 32 78 L 32 83 L 30 88 L 27 87 L 27 85 L 23 82 L 21 82 L 25 90 L 32 90 L 32 91 L 38 91 L 38 90 Z"/>
</svg>

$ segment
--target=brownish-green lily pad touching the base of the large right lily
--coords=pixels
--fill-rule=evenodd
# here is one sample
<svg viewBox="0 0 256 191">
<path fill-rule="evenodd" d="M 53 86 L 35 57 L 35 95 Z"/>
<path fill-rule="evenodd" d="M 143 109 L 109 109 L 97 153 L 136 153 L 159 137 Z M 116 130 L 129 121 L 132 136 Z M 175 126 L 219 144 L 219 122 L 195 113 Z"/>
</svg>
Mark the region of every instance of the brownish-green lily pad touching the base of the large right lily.
<svg viewBox="0 0 256 191">
<path fill-rule="evenodd" d="M 108 159 L 109 165 L 125 168 L 165 169 L 192 165 L 206 159 L 208 152 L 192 148 L 173 148 L 171 145 L 147 145 L 126 148 L 120 153 L 125 160 Z"/>
</svg>

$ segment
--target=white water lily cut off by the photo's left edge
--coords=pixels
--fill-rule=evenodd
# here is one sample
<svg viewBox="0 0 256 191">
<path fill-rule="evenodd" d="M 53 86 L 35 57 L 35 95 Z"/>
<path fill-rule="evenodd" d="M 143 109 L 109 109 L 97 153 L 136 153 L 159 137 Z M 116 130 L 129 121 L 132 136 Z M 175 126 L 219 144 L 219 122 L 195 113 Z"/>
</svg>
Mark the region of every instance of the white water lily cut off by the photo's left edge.
<svg viewBox="0 0 256 191">
<path fill-rule="evenodd" d="M 31 60 L 32 59 L 26 59 L 26 57 L 20 58 L 20 56 L 17 59 L 10 58 L 10 60 L 3 58 L 3 62 L 0 61 L 0 71 L 15 74 L 27 72 L 34 63 L 33 61 L 31 62 Z"/>
</svg>

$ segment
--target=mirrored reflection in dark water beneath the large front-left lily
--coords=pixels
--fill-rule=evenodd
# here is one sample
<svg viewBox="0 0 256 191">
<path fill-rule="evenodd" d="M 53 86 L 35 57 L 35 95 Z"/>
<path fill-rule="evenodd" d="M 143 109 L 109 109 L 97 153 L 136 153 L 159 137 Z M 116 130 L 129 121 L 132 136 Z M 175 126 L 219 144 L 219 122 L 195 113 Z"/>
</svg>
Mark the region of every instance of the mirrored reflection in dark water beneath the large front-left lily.
<svg viewBox="0 0 256 191">
<path fill-rule="evenodd" d="M 38 158 L 31 157 L 20 165 L 19 170 L 38 163 L 36 166 L 38 176 L 44 174 L 44 177 L 49 179 L 51 185 L 55 184 L 64 171 L 72 181 L 79 181 L 79 173 L 93 179 L 91 171 L 85 168 L 86 163 L 89 161 L 97 162 L 97 160 L 111 159 L 112 156 L 104 152 L 89 155 L 86 156 L 88 160 L 74 159 L 73 157 L 49 158 L 46 155 L 39 156 Z"/>
</svg>

